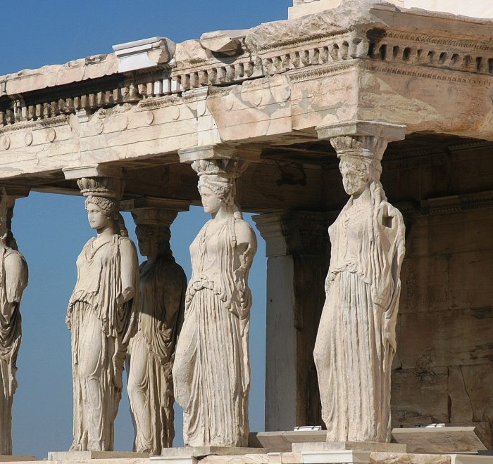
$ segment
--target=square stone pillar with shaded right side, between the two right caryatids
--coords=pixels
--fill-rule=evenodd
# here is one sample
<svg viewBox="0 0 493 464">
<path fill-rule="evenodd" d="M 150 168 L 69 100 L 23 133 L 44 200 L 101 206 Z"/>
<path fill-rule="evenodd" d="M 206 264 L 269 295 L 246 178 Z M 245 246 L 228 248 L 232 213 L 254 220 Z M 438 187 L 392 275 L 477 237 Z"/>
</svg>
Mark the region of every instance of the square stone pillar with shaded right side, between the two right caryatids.
<svg viewBox="0 0 493 464">
<path fill-rule="evenodd" d="M 266 431 L 322 425 L 313 346 L 323 307 L 331 214 L 254 217 L 266 240 Z"/>
</svg>

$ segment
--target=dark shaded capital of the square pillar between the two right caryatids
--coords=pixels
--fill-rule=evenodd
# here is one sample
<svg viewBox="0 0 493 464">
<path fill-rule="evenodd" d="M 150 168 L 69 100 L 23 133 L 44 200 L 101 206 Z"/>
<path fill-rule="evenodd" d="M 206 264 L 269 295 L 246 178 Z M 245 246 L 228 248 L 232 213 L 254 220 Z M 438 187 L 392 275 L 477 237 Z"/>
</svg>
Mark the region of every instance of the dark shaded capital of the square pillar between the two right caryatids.
<svg viewBox="0 0 493 464">
<path fill-rule="evenodd" d="M 325 255 L 328 252 L 327 228 L 337 217 L 334 212 L 282 211 L 253 217 L 266 240 L 266 256 L 289 254 Z"/>
</svg>

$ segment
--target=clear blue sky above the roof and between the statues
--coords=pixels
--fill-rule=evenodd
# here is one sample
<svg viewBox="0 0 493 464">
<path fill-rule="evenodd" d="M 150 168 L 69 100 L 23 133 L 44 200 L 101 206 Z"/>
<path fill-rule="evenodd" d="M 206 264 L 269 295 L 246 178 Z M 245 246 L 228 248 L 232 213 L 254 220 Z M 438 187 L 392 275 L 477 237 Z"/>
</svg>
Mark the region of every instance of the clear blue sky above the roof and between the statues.
<svg viewBox="0 0 493 464">
<path fill-rule="evenodd" d="M 203 32 L 242 29 L 287 17 L 290 0 L 173 1 L 1 1 L 0 75 L 25 68 L 65 63 L 111 46 L 146 37 L 174 41 Z M 247 218 L 249 215 L 247 215 Z M 188 247 L 208 219 L 199 207 L 180 213 L 172 227 L 177 262 L 190 275 Z M 133 235 L 130 215 L 125 215 Z M 32 192 L 18 200 L 13 233 L 30 269 L 23 297 L 23 342 L 18 358 L 18 391 L 13 406 L 13 452 L 46 457 L 72 441 L 70 333 L 65 326 L 68 298 L 75 284 L 75 259 L 94 233 L 83 200 Z M 263 430 L 265 369 L 266 259 L 258 236 L 251 272 L 251 430 Z M 132 449 L 133 431 L 126 392 L 116 420 L 115 449 Z M 175 444 L 182 444 L 177 411 Z"/>
</svg>

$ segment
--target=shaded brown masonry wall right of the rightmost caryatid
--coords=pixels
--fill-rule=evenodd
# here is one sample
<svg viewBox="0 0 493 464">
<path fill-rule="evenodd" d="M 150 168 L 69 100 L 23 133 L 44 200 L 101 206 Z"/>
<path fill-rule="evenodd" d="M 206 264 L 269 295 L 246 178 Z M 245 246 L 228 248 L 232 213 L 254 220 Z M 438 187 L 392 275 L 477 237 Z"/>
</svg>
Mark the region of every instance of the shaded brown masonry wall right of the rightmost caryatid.
<svg viewBox="0 0 493 464">
<path fill-rule="evenodd" d="M 485 191 L 483 177 L 471 175 L 480 169 L 491 176 L 491 162 L 475 164 L 482 155 L 478 150 L 453 155 L 448 169 L 430 164 L 421 180 L 446 178 L 457 186 L 454 193 Z M 467 158 L 468 169 L 454 169 Z M 422 211 L 408 221 L 392 419 L 395 427 L 477 425 L 491 447 L 493 206 L 471 201 L 462 208 Z"/>
</svg>

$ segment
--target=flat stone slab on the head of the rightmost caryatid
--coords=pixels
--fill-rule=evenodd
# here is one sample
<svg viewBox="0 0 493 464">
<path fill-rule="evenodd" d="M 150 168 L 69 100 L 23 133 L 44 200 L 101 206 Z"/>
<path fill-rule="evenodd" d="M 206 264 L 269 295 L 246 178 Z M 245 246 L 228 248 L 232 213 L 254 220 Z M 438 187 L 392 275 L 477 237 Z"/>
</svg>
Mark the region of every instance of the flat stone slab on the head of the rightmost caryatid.
<svg viewBox="0 0 493 464">
<path fill-rule="evenodd" d="M 374 136 L 385 138 L 387 142 L 403 140 L 406 137 L 404 124 L 389 124 L 379 121 L 353 121 L 341 124 L 329 124 L 315 128 L 318 138 L 339 136 Z"/>
</svg>

